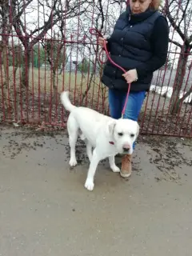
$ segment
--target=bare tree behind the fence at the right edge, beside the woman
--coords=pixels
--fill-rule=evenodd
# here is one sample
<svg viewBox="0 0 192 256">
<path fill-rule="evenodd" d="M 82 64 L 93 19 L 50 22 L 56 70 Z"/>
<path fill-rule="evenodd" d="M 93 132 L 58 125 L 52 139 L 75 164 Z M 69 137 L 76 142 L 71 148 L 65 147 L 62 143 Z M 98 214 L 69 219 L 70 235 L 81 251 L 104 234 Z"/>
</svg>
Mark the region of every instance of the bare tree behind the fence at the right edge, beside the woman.
<svg viewBox="0 0 192 256">
<path fill-rule="evenodd" d="M 192 48 L 192 2 L 190 0 L 170 0 L 167 1 L 164 10 L 170 22 L 170 28 L 172 28 L 170 30 L 172 32 L 170 33 L 170 42 L 180 49 L 170 107 L 171 113 L 176 114 L 182 102 L 192 92 L 190 88 L 182 98 L 179 98 Z M 175 37 L 173 36 L 174 31 L 176 31 Z"/>
</svg>

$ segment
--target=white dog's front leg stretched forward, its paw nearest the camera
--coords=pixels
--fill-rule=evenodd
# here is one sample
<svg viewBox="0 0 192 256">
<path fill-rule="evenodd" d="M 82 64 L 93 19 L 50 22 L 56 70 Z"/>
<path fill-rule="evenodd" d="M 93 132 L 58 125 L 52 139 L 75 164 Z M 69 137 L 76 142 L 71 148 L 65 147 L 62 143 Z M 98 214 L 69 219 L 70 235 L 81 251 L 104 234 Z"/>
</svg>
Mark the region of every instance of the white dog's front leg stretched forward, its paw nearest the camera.
<svg viewBox="0 0 192 256">
<path fill-rule="evenodd" d="M 101 160 L 101 158 L 99 158 L 99 155 L 97 154 L 96 150 L 94 149 L 93 151 L 93 155 L 90 161 L 90 168 L 88 170 L 88 174 L 86 177 L 86 183 L 85 183 L 85 187 L 87 190 L 94 190 L 94 174 L 95 171 L 97 169 L 98 166 L 98 162 Z"/>
</svg>

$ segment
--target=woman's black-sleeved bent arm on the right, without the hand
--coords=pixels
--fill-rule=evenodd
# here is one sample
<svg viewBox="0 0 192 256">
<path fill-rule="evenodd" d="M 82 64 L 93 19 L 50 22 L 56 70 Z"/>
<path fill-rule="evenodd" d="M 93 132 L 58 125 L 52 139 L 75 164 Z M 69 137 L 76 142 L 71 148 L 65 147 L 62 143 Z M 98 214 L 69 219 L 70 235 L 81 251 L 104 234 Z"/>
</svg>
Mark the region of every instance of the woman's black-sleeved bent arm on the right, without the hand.
<svg viewBox="0 0 192 256">
<path fill-rule="evenodd" d="M 147 62 L 136 67 L 138 78 L 145 76 L 147 72 L 154 72 L 166 63 L 169 45 L 169 26 L 166 19 L 160 16 L 154 23 L 151 34 L 151 45 L 153 56 Z"/>
</svg>

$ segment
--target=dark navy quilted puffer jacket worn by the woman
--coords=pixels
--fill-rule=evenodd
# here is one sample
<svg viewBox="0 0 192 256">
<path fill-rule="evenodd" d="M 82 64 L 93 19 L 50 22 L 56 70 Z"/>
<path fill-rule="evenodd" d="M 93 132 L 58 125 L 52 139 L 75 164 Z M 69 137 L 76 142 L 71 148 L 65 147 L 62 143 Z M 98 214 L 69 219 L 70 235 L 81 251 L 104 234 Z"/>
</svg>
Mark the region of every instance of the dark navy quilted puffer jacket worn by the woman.
<svg viewBox="0 0 192 256">
<path fill-rule="evenodd" d="M 132 82 L 131 91 L 149 90 L 154 70 L 166 62 L 169 28 L 166 18 L 156 10 L 131 14 L 127 6 L 108 38 L 110 57 L 125 70 L 136 69 L 138 81 Z M 110 89 L 127 90 L 127 82 L 109 61 L 102 74 L 102 82 Z"/>
</svg>

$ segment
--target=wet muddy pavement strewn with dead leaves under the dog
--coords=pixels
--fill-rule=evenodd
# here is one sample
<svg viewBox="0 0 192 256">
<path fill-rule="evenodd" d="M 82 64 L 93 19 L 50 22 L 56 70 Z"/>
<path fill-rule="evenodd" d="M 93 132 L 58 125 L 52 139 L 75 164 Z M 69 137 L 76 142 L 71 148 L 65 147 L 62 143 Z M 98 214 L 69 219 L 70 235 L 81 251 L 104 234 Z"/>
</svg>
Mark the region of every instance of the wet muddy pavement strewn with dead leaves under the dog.
<svg viewBox="0 0 192 256">
<path fill-rule="evenodd" d="M 192 142 L 140 135 L 130 179 L 88 159 L 66 131 L 0 126 L 1 256 L 185 256 L 192 250 Z M 117 159 L 119 161 L 119 159 Z"/>
</svg>

